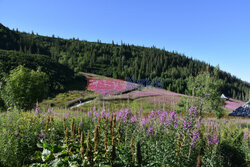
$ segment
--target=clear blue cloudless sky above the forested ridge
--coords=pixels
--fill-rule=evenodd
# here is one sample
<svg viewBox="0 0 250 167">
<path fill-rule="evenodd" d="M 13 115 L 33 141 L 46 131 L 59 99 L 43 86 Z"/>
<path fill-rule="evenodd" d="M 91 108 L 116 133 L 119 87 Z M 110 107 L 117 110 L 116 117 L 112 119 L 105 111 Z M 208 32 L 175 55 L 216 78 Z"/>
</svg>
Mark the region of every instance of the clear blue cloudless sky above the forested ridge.
<svg viewBox="0 0 250 167">
<path fill-rule="evenodd" d="M 0 0 L 19 31 L 156 46 L 250 82 L 250 0 Z"/>
</svg>

